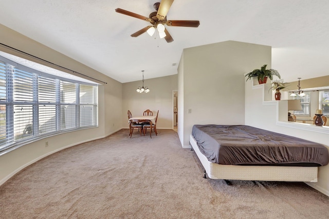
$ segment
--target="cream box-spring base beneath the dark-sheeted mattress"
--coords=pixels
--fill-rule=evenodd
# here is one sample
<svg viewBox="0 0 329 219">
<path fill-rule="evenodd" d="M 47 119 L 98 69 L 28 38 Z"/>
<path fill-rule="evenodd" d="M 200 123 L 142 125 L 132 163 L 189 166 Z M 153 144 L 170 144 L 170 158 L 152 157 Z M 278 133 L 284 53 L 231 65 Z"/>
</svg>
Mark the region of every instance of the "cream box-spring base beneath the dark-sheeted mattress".
<svg viewBox="0 0 329 219">
<path fill-rule="evenodd" d="M 205 169 L 205 177 L 218 180 L 318 182 L 318 167 L 214 164 L 200 152 L 192 135 L 190 135 L 190 144 Z"/>
</svg>

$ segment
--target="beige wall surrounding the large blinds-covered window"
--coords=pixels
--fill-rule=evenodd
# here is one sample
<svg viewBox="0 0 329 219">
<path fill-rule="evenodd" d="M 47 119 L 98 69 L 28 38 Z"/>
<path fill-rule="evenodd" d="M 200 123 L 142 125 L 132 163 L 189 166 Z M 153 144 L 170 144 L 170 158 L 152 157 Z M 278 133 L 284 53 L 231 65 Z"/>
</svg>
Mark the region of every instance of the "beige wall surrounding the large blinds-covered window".
<svg viewBox="0 0 329 219">
<path fill-rule="evenodd" d="M 72 131 L 68 133 L 58 134 L 48 137 L 47 140 L 42 139 L 30 144 L 26 144 L 20 148 L 9 151 L 0 156 L 0 185 L 8 180 L 16 172 L 20 171 L 29 164 L 40 160 L 53 152 L 61 150 L 65 147 L 70 147 L 82 142 L 94 140 L 104 137 L 122 128 L 121 123 L 121 106 L 122 106 L 122 84 L 104 74 L 95 71 L 74 59 L 71 59 L 57 51 L 54 51 L 32 39 L 25 37 L 3 25 L 0 25 L 1 43 L 10 47 L 19 49 L 36 57 L 45 59 L 48 62 L 55 63 L 65 68 L 86 74 L 97 78 L 107 84 L 99 86 L 99 126 L 92 129 L 84 129 Z M 41 63 L 53 68 L 50 64 L 31 58 L 14 50 L 0 46 L 0 50 L 21 56 L 31 61 Z M 61 68 L 57 68 L 63 70 Z M 68 72 L 71 73 L 71 72 Z M 77 76 L 81 76 L 76 74 Z M 86 79 L 90 79 L 86 77 Z M 119 92 L 118 92 L 119 90 Z M 109 113 L 111 112 L 111 113 Z M 114 124 L 114 125 L 113 125 Z M 48 141 L 49 146 L 45 147 L 45 141 Z"/>
</svg>

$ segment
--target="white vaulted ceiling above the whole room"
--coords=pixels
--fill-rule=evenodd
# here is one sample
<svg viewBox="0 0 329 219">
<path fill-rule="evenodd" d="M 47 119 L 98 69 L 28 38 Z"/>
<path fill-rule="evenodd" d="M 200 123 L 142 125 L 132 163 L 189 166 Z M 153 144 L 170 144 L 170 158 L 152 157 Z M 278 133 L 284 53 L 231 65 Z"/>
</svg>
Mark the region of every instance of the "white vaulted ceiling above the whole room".
<svg viewBox="0 0 329 219">
<path fill-rule="evenodd" d="M 166 26 L 172 43 L 147 33 L 131 37 L 150 23 L 115 12 L 148 17 L 156 0 L 1 2 L 1 24 L 121 83 L 141 80 L 141 70 L 145 79 L 176 74 L 184 48 L 229 40 L 271 46 L 272 68 L 285 82 L 328 75 L 327 0 L 176 0 L 168 20 L 200 26 Z"/>
</svg>

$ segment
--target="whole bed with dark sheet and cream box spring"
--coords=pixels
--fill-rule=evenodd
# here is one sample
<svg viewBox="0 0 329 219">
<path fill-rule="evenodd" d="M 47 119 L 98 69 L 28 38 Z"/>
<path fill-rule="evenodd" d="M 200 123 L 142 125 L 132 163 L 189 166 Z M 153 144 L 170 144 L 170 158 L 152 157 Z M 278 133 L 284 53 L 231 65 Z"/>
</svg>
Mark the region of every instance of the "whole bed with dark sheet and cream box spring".
<svg viewBox="0 0 329 219">
<path fill-rule="evenodd" d="M 324 145 L 243 125 L 194 125 L 190 144 L 213 179 L 317 182 L 329 161 Z"/>
</svg>

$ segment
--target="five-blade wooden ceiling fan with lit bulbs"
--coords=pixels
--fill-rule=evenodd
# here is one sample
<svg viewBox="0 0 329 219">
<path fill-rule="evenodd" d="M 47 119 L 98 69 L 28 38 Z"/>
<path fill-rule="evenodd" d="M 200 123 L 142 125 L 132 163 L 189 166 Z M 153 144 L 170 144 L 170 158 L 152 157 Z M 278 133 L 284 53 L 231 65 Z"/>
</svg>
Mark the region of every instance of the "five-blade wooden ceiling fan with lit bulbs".
<svg viewBox="0 0 329 219">
<path fill-rule="evenodd" d="M 152 24 L 150 26 L 144 27 L 136 33 L 133 33 L 131 35 L 132 37 L 137 37 L 145 32 L 148 32 L 152 36 L 155 32 L 155 29 L 157 29 L 159 32 L 159 37 L 165 38 L 167 43 L 170 43 L 173 42 L 174 39 L 164 25 L 176 27 L 198 27 L 200 25 L 199 21 L 167 21 L 167 13 L 173 2 L 174 0 L 162 0 L 161 3 L 155 3 L 153 7 L 156 11 L 152 12 L 149 17 L 126 11 L 121 8 L 117 8 L 115 11 L 121 14 L 142 19 Z"/>
</svg>

